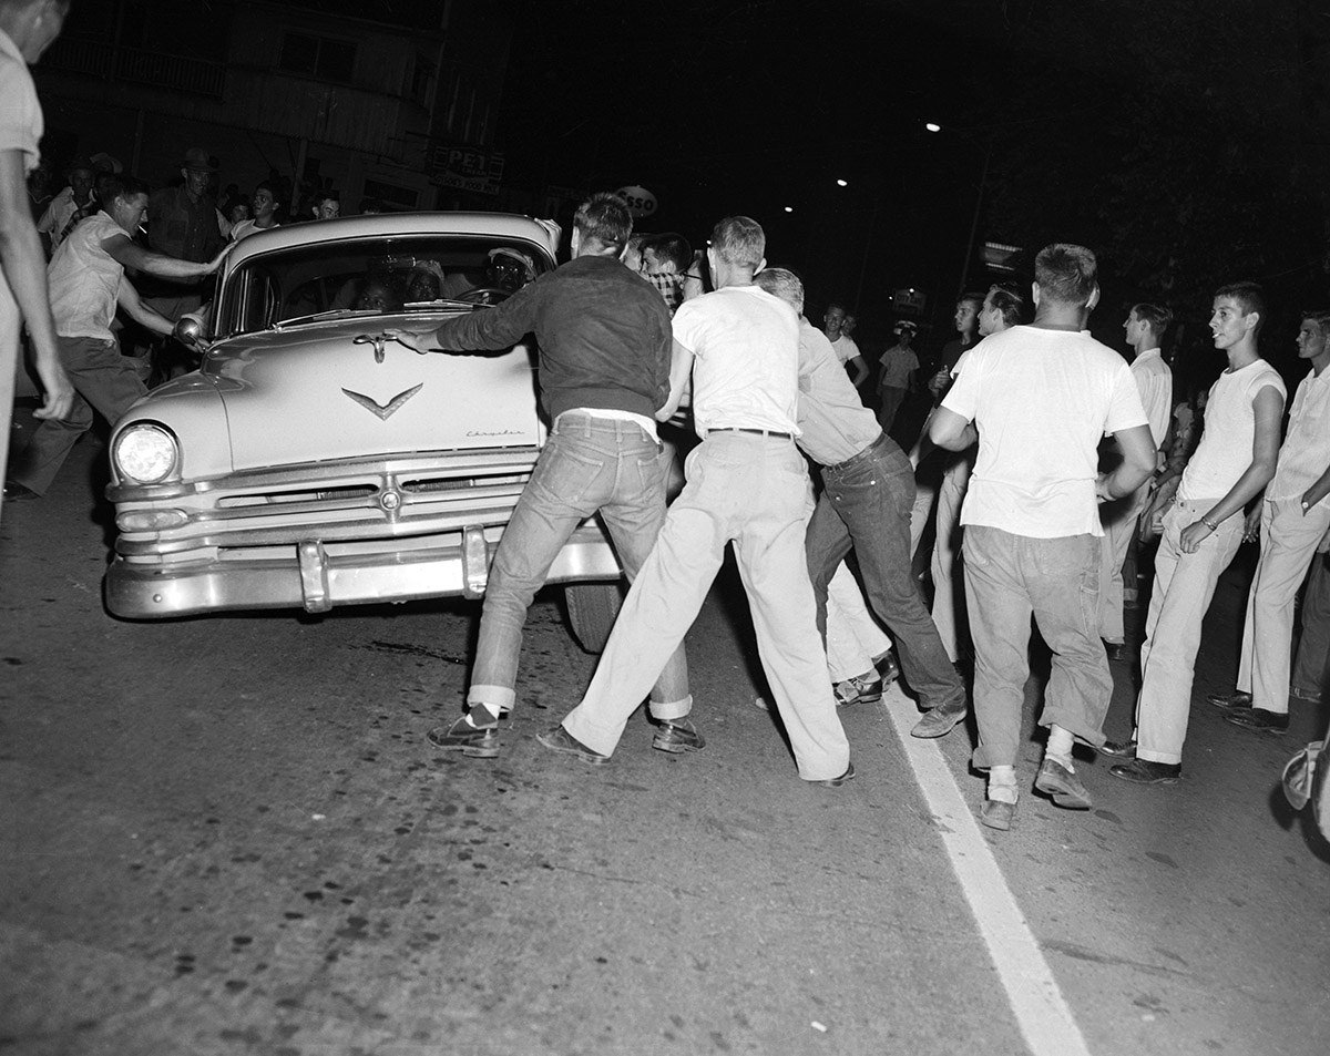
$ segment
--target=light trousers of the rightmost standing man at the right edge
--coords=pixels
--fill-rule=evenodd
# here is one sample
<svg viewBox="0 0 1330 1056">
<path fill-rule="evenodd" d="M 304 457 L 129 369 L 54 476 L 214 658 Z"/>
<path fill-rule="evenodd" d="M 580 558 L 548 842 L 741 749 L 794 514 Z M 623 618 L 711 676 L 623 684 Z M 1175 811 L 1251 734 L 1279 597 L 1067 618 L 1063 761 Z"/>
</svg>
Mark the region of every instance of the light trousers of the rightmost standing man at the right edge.
<svg viewBox="0 0 1330 1056">
<path fill-rule="evenodd" d="M 1238 689 L 1252 694 L 1253 708 L 1289 712 L 1293 605 L 1327 527 L 1330 509 L 1323 507 L 1303 513 L 1299 499 L 1264 504 L 1261 560 L 1248 596 L 1238 662 Z"/>
</svg>

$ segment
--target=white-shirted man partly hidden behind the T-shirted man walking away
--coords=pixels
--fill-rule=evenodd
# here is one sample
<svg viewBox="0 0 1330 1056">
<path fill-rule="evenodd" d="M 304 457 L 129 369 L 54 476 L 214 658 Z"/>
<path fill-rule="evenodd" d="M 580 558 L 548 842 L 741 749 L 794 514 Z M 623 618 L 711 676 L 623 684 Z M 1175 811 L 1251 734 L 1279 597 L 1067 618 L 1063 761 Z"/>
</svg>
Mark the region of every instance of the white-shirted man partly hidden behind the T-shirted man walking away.
<svg viewBox="0 0 1330 1056">
<path fill-rule="evenodd" d="M 1132 378 L 1141 394 L 1141 406 L 1149 420 L 1156 448 L 1162 448 L 1168 435 L 1169 412 L 1173 407 L 1173 371 L 1164 362 L 1160 339 L 1173 313 L 1158 305 L 1137 305 L 1128 313 L 1123 329 L 1132 346 Z M 1136 535 L 1136 520 L 1150 497 L 1146 480 L 1132 495 L 1099 508 L 1104 525 L 1103 559 L 1099 576 L 1099 634 L 1104 640 L 1109 660 L 1127 658 L 1125 628 L 1123 626 L 1123 561 L 1127 548 Z"/>
</svg>

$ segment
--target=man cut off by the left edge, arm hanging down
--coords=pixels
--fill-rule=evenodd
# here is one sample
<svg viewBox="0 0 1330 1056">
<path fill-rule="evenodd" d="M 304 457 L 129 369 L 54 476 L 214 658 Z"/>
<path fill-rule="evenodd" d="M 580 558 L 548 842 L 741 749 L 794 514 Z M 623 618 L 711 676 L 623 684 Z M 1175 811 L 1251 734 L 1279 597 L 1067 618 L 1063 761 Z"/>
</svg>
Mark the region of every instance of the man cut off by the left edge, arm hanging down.
<svg viewBox="0 0 1330 1056">
<path fill-rule="evenodd" d="M 9 450 L 19 330 L 32 339 L 33 366 L 45 388 L 36 416 L 61 418 L 74 390 L 60 366 L 47 297 L 45 254 L 28 209 L 27 174 L 37 166 L 43 117 L 28 64 L 60 35 L 66 0 L 0 0 L 0 471 Z M 7 496 L 8 497 L 8 496 Z"/>
</svg>

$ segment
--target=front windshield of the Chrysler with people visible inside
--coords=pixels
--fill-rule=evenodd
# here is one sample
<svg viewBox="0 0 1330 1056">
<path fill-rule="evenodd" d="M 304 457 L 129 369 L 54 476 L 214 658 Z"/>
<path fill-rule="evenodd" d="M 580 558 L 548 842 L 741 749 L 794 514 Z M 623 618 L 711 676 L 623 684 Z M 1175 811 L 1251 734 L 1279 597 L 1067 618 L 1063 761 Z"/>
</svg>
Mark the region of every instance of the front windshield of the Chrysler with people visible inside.
<svg viewBox="0 0 1330 1056">
<path fill-rule="evenodd" d="M 315 242 L 245 261 L 227 277 L 218 334 L 416 306 L 493 305 L 549 267 L 515 239 L 408 235 Z"/>
</svg>

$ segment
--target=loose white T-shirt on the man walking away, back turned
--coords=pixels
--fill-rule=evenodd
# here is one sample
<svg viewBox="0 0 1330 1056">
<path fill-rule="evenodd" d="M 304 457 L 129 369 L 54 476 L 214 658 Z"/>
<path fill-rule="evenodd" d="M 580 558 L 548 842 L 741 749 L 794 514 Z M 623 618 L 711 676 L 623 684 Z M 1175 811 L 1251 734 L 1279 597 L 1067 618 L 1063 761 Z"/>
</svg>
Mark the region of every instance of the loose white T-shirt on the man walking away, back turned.
<svg viewBox="0 0 1330 1056">
<path fill-rule="evenodd" d="M 979 430 L 962 524 L 1095 535 L 1105 432 L 1146 424 L 1127 362 L 1087 331 L 1013 326 L 974 346 L 942 402 Z"/>
</svg>

